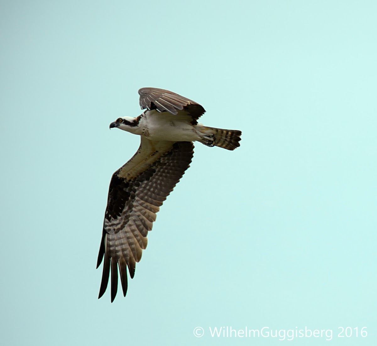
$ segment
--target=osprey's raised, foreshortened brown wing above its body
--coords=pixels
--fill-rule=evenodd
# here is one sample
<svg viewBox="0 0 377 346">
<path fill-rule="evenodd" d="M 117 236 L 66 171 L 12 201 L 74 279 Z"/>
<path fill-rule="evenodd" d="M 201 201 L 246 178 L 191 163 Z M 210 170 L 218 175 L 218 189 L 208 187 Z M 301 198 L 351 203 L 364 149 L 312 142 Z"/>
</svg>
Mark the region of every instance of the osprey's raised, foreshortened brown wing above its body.
<svg viewBox="0 0 377 346">
<path fill-rule="evenodd" d="M 196 120 L 204 114 L 204 108 L 189 98 L 185 98 L 174 92 L 158 88 L 139 89 L 141 109 L 156 109 L 158 112 L 170 112 L 177 114 L 178 110 L 185 110 L 192 116 L 196 125 Z"/>
</svg>

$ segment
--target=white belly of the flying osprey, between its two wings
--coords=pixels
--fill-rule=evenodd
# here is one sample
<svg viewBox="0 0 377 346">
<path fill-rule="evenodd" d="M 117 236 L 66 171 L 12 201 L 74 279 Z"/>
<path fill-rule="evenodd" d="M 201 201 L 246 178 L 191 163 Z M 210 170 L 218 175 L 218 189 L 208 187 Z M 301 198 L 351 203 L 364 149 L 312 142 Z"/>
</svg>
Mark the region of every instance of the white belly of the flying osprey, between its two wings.
<svg viewBox="0 0 377 346">
<path fill-rule="evenodd" d="M 148 124 L 147 137 L 155 141 L 198 141 L 195 126 L 181 121 L 159 121 Z"/>
</svg>

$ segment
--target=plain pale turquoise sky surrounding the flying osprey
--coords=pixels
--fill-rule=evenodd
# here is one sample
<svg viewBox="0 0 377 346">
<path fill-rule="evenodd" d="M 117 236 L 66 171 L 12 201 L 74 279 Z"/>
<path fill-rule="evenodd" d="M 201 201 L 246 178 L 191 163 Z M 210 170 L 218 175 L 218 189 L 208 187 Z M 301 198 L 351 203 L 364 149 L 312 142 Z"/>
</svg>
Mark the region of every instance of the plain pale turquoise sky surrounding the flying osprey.
<svg viewBox="0 0 377 346">
<path fill-rule="evenodd" d="M 0 13 L 1 344 L 280 343 L 211 338 L 216 326 L 376 344 L 375 2 L 2 1 Z M 145 86 L 243 135 L 234 152 L 196 145 L 110 304 L 95 269 L 108 185 L 139 138 L 109 124 L 141 113 Z M 339 326 L 369 334 L 337 338 Z"/>
</svg>

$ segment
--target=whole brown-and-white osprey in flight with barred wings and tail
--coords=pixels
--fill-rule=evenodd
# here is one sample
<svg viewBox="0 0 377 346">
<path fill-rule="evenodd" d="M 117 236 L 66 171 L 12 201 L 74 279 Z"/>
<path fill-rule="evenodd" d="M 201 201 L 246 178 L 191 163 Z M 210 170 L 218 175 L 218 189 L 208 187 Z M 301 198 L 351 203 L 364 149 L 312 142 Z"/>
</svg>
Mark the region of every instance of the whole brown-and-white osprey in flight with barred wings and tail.
<svg viewBox="0 0 377 346">
<path fill-rule="evenodd" d="M 106 291 L 111 271 L 111 302 L 118 289 L 118 268 L 126 296 L 127 267 L 132 279 L 159 207 L 190 167 L 193 142 L 234 150 L 241 140 L 241 131 L 198 123 L 205 110 L 188 98 L 157 88 L 142 88 L 139 95 L 140 107 L 146 111 L 110 124 L 110 129 L 117 127 L 141 138 L 135 155 L 110 181 L 97 268 L 104 258 L 98 298 Z"/>
</svg>

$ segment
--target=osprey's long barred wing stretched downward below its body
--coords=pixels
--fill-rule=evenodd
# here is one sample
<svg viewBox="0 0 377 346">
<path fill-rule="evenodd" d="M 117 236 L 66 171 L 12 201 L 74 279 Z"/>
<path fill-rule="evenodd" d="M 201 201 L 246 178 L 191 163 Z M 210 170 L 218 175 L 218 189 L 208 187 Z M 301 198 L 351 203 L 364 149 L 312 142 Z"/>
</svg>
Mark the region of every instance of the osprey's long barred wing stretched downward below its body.
<svg viewBox="0 0 377 346">
<path fill-rule="evenodd" d="M 192 142 L 153 142 L 141 136 L 136 154 L 113 174 L 97 261 L 98 268 L 104 257 L 98 298 L 106 291 L 111 267 L 111 302 L 115 299 L 118 266 L 126 296 L 127 266 L 133 278 L 156 213 L 190 167 L 193 149 Z"/>
</svg>

